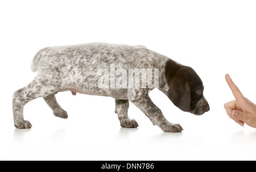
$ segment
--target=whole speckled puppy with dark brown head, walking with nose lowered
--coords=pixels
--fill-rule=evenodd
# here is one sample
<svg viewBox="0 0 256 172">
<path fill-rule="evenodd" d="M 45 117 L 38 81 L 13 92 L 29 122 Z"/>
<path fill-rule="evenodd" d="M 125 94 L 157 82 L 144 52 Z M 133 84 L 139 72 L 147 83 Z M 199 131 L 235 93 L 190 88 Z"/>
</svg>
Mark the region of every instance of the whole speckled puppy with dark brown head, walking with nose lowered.
<svg viewBox="0 0 256 172">
<path fill-rule="evenodd" d="M 140 71 L 139 75 L 134 69 Z M 141 87 L 142 78 L 145 76 L 142 71 L 146 69 L 151 69 L 146 76 L 147 81 L 151 83 L 154 80 L 158 85 L 148 87 L 147 83 Z M 152 72 L 152 69 L 157 72 Z M 209 111 L 208 102 L 203 96 L 204 85 L 196 72 L 191 67 L 180 65 L 144 46 L 90 43 L 48 47 L 35 55 L 31 70 L 38 71 L 36 78 L 26 87 L 14 92 L 13 115 L 16 128 L 32 127 L 31 123 L 23 118 L 23 107 L 38 97 L 44 98 L 56 117 L 68 118 L 67 111 L 61 108 L 55 98 L 55 94 L 63 91 L 71 91 L 73 95 L 84 93 L 113 97 L 115 113 L 121 127 L 127 128 L 138 127 L 135 119 L 129 119 L 127 114 L 130 101 L 164 132 L 183 130 L 180 124 L 168 122 L 162 111 L 151 101 L 148 93 L 154 88 L 166 94 L 174 105 L 183 111 L 195 115 Z M 133 70 L 132 74 L 130 70 Z M 137 81 L 126 82 L 128 71 L 129 79 L 130 76 L 139 76 Z M 114 76 L 111 72 L 114 72 Z M 106 75 L 102 76 L 102 73 Z M 134 86 L 133 82 L 139 82 L 139 87 L 131 87 Z M 102 84 L 105 87 L 102 87 Z"/>
</svg>

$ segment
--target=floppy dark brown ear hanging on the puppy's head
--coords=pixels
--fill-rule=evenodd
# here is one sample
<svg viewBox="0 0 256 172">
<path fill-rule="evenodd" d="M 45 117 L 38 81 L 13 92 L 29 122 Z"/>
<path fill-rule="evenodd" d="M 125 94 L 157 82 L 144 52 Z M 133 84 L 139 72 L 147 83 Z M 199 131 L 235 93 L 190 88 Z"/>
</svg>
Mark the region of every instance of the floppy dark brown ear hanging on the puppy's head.
<svg viewBox="0 0 256 172">
<path fill-rule="evenodd" d="M 183 111 L 188 111 L 191 104 L 191 92 L 189 83 L 183 78 L 175 77 L 170 83 L 167 93 L 170 100 Z"/>
</svg>

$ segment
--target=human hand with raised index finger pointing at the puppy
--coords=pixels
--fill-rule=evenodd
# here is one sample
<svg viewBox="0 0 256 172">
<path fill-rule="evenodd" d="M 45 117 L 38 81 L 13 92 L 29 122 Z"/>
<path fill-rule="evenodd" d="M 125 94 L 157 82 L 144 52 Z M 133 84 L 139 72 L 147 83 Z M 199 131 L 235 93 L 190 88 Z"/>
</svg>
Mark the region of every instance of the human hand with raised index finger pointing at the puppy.
<svg viewBox="0 0 256 172">
<path fill-rule="evenodd" d="M 225 75 L 226 82 L 229 85 L 236 100 L 230 101 L 224 105 L 226 113 L 231 119 L 243 126 L 245 123 L 248 126 L 256 128 L 256 105 L 250 100 L 243 97 L 243 94 L 233 83 L 228 74 Z"/>
</svg>

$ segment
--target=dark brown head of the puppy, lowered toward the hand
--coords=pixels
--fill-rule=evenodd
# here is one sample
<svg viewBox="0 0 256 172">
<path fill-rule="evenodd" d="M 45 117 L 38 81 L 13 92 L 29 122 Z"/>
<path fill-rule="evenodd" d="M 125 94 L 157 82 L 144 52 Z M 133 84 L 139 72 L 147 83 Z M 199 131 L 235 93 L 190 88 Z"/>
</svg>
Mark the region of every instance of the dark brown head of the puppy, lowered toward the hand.
<svg viewBox="0 0 256 172">
<path fill-rule="evenodd" d="M 179 109 L 195 115 L 210 110 L 203 95 L 203 82 L 191 67 L 178 65 L 174 61 L 167 62 L 166 81 L 170 87 L 167 96 Z"/>
</svg>

